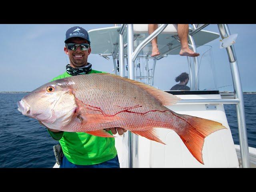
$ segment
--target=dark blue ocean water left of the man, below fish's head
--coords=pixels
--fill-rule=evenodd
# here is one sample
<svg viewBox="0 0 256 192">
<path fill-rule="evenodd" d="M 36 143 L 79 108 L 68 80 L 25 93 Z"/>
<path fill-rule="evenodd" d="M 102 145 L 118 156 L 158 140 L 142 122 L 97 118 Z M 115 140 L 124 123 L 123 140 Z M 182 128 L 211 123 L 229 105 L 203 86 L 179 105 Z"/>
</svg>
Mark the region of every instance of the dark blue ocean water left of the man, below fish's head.
<svg viewBox="0 0 256 192">
<path fill-rule="evenodd" d="M 52 139 L 37 120 L 22 115 L 17 102 L 28 93 L 0 93 L 0 168 L 50 168 Z"/>
</svg>

